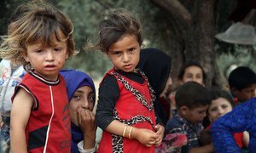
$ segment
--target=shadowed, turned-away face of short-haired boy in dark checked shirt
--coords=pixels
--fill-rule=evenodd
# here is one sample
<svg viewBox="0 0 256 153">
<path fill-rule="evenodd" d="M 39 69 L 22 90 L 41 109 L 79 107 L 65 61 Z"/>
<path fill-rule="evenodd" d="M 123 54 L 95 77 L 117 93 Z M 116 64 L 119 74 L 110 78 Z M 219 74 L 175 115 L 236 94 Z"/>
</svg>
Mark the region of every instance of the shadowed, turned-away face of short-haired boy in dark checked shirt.
<svg viewBox="0 0 256 153">
<path fill-rule="evenodd" d="M 207 108 L 208 105 L 201 105 L 194 109 L 187 108 L 183 117 L 192 124 L 200 123 L 203 121 L 204 117 L 207 116 Z"/>
</svg>

